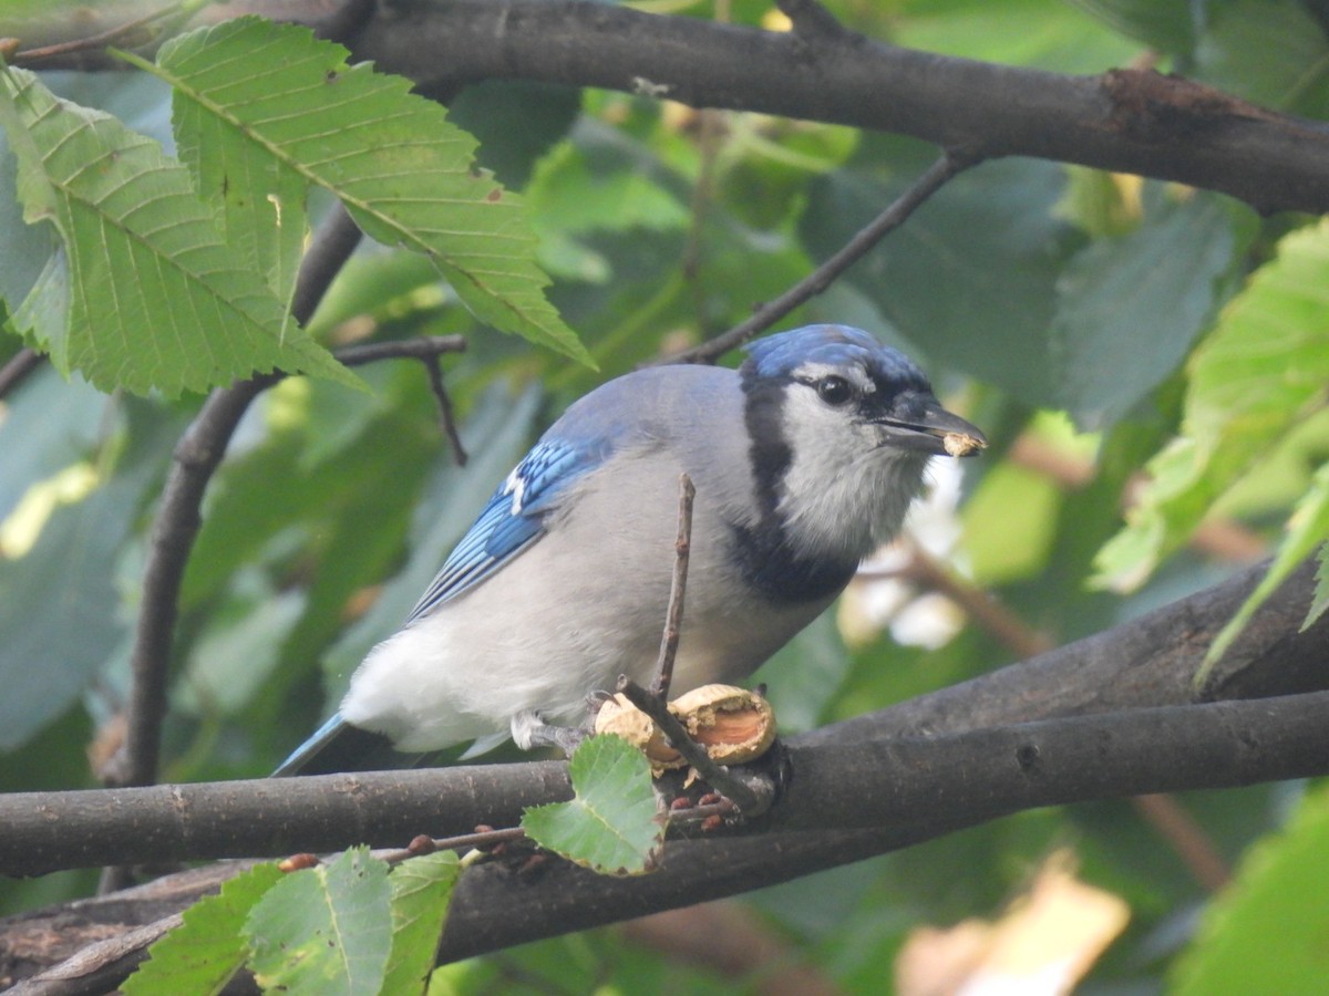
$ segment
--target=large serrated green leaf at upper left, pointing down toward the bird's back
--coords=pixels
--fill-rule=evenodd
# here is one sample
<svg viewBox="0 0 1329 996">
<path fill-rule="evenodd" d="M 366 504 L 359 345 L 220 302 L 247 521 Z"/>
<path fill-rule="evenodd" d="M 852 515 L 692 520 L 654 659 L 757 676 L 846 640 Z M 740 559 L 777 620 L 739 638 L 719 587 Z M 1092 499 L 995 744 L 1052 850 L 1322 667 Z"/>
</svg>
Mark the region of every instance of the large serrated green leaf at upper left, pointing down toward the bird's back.
<svg viewBox="0 0 1329 996">
<path fill-rule="evenodd" d="M 237 17 L 163 45 L 153 72 L 227 162 L 324 187 L 372 238 L 429 256 L 481 321 L 593 365 L 545 299 L 521 201 L 473 167 L 476 141 L 409 80 L 347 54 L 306 28 Z"/>
</svg>

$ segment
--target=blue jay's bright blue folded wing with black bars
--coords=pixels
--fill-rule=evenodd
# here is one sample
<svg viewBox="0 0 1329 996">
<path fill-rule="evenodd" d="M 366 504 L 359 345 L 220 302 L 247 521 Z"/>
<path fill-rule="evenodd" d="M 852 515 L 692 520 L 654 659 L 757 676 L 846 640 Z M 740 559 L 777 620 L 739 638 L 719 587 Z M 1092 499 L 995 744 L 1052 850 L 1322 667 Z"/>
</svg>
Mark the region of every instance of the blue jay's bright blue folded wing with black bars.
<svg viewBox="0 0 1329 996">
<path fill-rule="evenodd" d="M 541 440 L 489 498 L 480 518 L 448 555 L 411 610 L 407 625 L 469 591 L 545 533 L 545 513 L 569 483 L 599 466 L 607 446 Z"/>
</svg>

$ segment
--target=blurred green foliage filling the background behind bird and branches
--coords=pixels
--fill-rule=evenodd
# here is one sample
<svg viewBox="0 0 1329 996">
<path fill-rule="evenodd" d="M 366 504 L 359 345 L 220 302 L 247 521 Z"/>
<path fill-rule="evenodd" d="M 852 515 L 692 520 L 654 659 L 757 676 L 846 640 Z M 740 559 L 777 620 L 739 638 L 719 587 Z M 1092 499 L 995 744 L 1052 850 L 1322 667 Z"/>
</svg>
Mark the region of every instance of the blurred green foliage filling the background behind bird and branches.
<svg viewBox="0 0 1329 996">
<path fill-rule="evenodd" d="M 828 5 L 901 45 L 1055 72 L 1155 65 L 1329 117 L 1329 13 L 1309 0 Z M 727 9 L 738 23 L 777 20 L 756 0 Z M 714 16 L 703 4 L 668 12 Z M 171 151 L 159 82 L 141 73 L 43 78 Z M 311 337 L 338 345 L 465 333 L 468 352 L 445 360 L 445 382 L 473 458 L 452 463 L 415 364 L 361 369 L 369 392 L 327 380 L 267 392 L 213 481 L 189 566 L 165 752 L 173 780 L 268 772 L 396 625 L 542 425 L 605 377 L 746 317 L 839 248 L 934 154 L 840 126 L 534 84 L 466 92 L 453 121 L 481 138 L 480 165 L 522 195 L 536 259 L 553 276 L 549 300 L 601 369 L 493 335 L 420 256 L 363 246 Z M 15 174 L 0 147 L 8 315 L 39 279 L 31 260 L 52 247 L 45 228 L 23 223 Z M 1326 239 L 1308 219 L 1261 219 L 1203 191 L 991 162 L 944 189 L 784 325 L 876 331 L 918 357 L 948 402 L 987 430 L 994 446 L 965 462 L 958 510 L 920 519 L 918 542 L 932 550 L 930 531 L 946 531 L 936 548 L 962 584 L 995 596 L 1038 640 L 1062 643 L 1205 587 L 1285 537 L 1297 551 L 1324 539 Z M 0 335 L 0 357 L 17 345 Z M 52 371 L 4 400 L 0 790 L 92 786 L 85 758 L 96 765 L 117 745 L 153 506 L 199 404 L 187 393 L 102 394 Z M 1140 493 L 1144 473 L 1151 483 Z M 1135 510 L 1123 515 L 1126 506 Z M 1091 588 L 1092 579 L 1114 584 Z M 853 606 L 841 610 L 852 649 L 828 615 L 759 673 L 784 729 L 1026 652 L 973 625 L 922 645 L 864 640 L 890 625 L 904 632 L 902 614 L 921 594 L 877 586 L 856 582 Z M 849 612 L 867 614 L 869 625 Z M 1306 795 L 1284 830 L 1300 795 L 1301 786 L 1263 786 L 1179 799 L 1191 833 L 1240 862 L 1213 904 L 1130 802 L 1025 813 L 748 902 L 791 959 L 847 991 L 880 992 L 916 928 L 997 916 L 1047 855 L 1069 850 L 1080 878 L 1122 896 L 1132 916 L 1080 992 L 1320 992 L 1322 944 L 1318 961 L 1271 954 L 1276 942 L 1284 952 L 1329 932 L 1324 793 Z M 52 876 L 7 887 L 0 903 L 17 910 L 88 887 L 85 875 Z M 1243 975 L 1271 961 L 1276 983 Z M 739 981 L 755 988 L 760 976 Z M 734 980 L 605 930 L 448 967 L 431 991 L 594 987 L 732 992 Z"/>
</svg>

